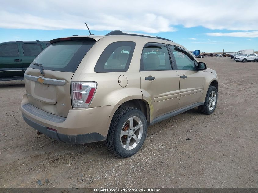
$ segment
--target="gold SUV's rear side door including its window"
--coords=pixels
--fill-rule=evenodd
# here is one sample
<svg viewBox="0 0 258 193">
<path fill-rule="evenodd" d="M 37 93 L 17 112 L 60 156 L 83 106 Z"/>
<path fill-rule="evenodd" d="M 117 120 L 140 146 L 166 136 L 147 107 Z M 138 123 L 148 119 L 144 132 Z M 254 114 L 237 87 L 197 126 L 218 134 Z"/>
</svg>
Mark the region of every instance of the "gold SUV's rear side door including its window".
<svg viewBox="0 0 258 193">
<path fill-rule="evenodd" d="M 150 121 L 178 107 L 179 77 L 172 68 L 165 44 L 145 45 L 141 56 L 140 77 L 143 98 L 150 105 Z"/>
</svg>

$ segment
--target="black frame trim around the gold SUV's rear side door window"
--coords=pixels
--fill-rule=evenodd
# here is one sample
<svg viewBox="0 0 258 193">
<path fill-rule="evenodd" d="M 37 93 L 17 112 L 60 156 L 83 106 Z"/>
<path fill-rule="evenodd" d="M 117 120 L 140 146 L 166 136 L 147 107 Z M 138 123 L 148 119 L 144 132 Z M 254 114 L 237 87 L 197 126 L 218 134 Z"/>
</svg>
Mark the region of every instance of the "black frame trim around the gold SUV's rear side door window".
<svg viewBox="0 0 258 193">
<path fill-rule="evenodd" d="M 151 46 L 164 46 L 164 47 L 167 48 L 167 51 L 168 51 L 168 54 L 169 54 L 169 62 L 170 62 L 170 65 L 171 65 L 171 69 L 156 69 L 156 70 L 145 70 L 144 69 L 144 63 L 143 63 L 143 58 L 142 58 L 143 57 L 143 51 L 144 51 L 144 48 L 151 47 Z M 163 43 L 157 43 L 157 42 L 148 42 L 148 43 L 144 44 L 143 49 L 142 49 L 142 53 L 141 53 L 139 71 L 167 71 L 167 70 L 176 70 L 175 66 L 173 65 L 173 60 L 171 58 L 170 49 L 168 48 L 168 45 L 163 44 Z"/>
</svg>

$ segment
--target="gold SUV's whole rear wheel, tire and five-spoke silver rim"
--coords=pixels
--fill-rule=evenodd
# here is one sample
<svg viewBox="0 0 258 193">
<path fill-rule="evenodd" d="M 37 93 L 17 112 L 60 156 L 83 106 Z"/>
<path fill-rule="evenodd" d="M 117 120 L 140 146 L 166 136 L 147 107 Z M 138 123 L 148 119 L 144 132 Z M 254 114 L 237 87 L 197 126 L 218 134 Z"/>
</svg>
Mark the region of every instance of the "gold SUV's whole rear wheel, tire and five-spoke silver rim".
<svg viewBox="0 0 258 193">
<path fill-rule="evenodd" d="M 106 145 L 119 157 L 130 157 L 139 151 L 147 134 L 147 121 L 136 108 L 121 107 L 114 114 L 107 134 Z"/>
</svg>

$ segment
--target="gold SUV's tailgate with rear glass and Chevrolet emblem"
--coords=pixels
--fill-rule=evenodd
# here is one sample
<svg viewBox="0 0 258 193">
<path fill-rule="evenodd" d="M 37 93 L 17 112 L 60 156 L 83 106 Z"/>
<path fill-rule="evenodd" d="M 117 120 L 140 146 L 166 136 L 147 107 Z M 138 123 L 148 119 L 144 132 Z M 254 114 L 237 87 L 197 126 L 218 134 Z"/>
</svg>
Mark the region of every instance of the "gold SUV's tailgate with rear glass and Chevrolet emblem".
<svg viewBox="0 0 258 193">
<path fill-rule="evenodd" d="M 24 74 L 29 102 L 48 113 L 67 117 L 71 78 L 96 41 L 59 41 L 46 48 Z M 43 74 L 40 73 L 43 69 Z"/>
</svg>

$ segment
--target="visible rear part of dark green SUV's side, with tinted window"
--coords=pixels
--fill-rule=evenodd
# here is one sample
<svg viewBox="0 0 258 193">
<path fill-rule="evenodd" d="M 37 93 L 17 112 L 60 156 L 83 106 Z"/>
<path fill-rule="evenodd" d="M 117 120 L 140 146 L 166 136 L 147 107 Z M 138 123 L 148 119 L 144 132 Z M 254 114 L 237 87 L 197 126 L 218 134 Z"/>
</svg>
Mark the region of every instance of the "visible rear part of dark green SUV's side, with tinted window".
<svg viewBox="0 0 258 193">
<path fill-rule="evenodd" d="M 25 71 L 31 62 L 43 51 L 42 44 L 20 42 L 22 69 Z"/>
</svg>

